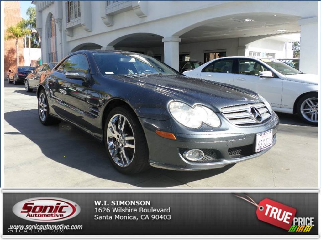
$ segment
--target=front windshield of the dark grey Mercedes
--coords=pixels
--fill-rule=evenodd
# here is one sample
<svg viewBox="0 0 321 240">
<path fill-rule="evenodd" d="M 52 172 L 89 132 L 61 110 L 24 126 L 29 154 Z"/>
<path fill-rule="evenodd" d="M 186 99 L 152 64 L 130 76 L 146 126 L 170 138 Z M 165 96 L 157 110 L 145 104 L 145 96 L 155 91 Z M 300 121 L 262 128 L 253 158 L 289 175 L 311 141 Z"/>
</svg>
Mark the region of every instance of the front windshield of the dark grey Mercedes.
<svg viewBox="0 0 321 240">
<path fill-rule="evenodd" d="M 164 63 L 138 53 L 93 53 L 96 64 L 103 75 L 168 74 L 179 75 Z"/>
</svg>

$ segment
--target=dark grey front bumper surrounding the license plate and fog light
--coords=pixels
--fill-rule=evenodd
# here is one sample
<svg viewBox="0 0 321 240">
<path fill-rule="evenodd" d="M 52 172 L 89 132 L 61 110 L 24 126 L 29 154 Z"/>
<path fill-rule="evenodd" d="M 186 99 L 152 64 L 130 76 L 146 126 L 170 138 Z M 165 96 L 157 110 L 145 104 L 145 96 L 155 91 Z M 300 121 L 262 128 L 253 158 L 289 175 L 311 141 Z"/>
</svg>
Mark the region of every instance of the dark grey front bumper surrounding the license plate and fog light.
<svg viewBox="0 0 321 240">
<path fill-rule="evenodd" d="M 221 118 L 222 119 L 222 118 Z M 157 121 L 140 118 L 149 148 L 149 161 L 154 167 L 170 170 L 206 170 L 221 168 L 247 159 L 261 156 L 276 143 L 276 132 L 279 118 L 273 112 L 264 124 L 255 126 L 237 126 L 229 121 L 222 122 L 215 131 L 177 133 L 174 119 Z M 172 132 L 176 140 L 158 136 L 155 131 Z M 260 152 L 255 152 L 257 133 L 273 132 L 273 145 Z M 183 152 L 189 149 L 201 149 L 204 158 L 200 161 L 189 161 Z"/>
</svg>

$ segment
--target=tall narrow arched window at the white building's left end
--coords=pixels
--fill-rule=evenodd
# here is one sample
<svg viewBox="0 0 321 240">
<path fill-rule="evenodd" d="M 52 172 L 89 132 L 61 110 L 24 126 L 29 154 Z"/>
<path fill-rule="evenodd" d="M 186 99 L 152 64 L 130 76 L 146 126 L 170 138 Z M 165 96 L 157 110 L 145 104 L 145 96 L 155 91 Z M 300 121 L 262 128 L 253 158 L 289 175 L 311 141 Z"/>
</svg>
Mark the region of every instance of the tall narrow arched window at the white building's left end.
<svg viewBox="0 0 321 240">
<path fill-rule="evenodd" d="M 57 62 L 57 40 L 56 40 L 56 22 L 52 14 L 48 18 L 48 60 L 49 62 Z"/>
</svg>

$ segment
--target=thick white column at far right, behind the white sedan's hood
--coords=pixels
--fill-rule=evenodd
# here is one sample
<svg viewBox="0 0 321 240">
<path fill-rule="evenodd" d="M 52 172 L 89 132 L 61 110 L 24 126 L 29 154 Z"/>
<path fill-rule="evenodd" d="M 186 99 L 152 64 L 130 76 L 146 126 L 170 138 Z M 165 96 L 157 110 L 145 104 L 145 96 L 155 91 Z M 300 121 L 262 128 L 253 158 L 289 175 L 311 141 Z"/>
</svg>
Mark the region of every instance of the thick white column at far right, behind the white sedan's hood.
<svg viewBox="0 0 321 240">
<path fill-rule="evenodd" d="M 304 73 L 318 74 L 320 68 L 318 53 L 318 18 L 300 19 L 300 71 Z"/>
</svg>

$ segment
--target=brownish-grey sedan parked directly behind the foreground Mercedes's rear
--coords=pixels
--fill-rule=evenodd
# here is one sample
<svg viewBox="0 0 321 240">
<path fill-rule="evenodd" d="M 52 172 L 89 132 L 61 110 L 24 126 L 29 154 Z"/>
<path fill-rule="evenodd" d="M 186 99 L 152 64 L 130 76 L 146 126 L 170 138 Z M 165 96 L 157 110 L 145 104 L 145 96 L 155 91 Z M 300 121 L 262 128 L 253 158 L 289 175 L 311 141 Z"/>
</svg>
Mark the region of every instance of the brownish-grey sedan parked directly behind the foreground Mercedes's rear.
<svg viewBox="0 0 321 240">
<path fill-rule="evenodd" d="M 56 65 L 57 62 L 47 62 L 32 70 L 24 80 L 26 91 L 32 92 L 33 89 L 37 89 L 39 85 L 40 75 L 47 70 L 51 70 Z"/>
</svg>

